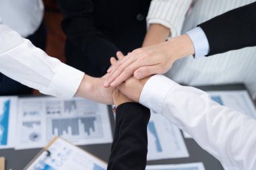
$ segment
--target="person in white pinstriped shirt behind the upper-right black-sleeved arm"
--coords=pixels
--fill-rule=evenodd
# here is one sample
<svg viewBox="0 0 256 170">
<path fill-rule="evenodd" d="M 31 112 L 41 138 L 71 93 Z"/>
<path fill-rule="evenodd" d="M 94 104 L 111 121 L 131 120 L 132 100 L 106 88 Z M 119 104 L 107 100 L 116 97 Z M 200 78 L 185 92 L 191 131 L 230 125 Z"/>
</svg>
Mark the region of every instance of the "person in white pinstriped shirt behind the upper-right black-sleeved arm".
<svg viewBox="0 0 256 170">
<path fill-rule="evenodd" d="M 155 37 L 158 38 L 151 38 L 148 44 L 154 45 L 164 42 L 169 34 L 172 38 L 175 38 L 216 15 L 252 2 L 253 0 L 153 0 L 147 17 L 148 25 L 164 26 L 169 30 L 168 32 L 160 31 L 156 33 L 149 30 L 147 36 L 155 34 Z M 189 7 L 188 4 L 191 3 L 193 5 Z M 184 15 L 184 13 L 187 13 L 187 15 Z M 256 78 L 255 54 L 256 47 L 233 50 L 211 57 L 202 57 L 205 53 L 197 52 L 195 58 L 189 56 L 178 60 L 174 57 L 172 60 L 166 61 L 166 65 L 168 64 L 172 68 L 165 68 L 164 73 L 170 69 L 166 73 L 167 77 L 179 83 L 193 86 L 245 83 L 253 99 L 256 99 L 256 79 L 252 79 L 252 77 Z M 156 70 L 156 68 L 154 69 Z"/>
</svg>

